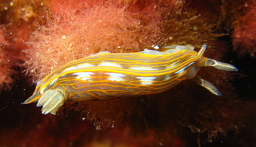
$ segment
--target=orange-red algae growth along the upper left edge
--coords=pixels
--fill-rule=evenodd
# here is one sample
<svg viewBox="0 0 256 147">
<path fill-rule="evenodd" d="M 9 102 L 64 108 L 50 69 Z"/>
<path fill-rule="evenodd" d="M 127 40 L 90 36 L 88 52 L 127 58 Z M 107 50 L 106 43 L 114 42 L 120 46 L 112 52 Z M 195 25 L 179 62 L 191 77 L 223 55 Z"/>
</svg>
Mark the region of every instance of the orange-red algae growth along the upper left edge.
<svg viewBox="0 0 256 147">
<path fill-rule="evenodd" d="M 13 82 L 19 79 L 20 75 L 17 73 L 22 70 L 22 63 L 28 59 L 22 52 L 27 47 L 24 42 L 35 28 L 33 23 L 42 20 L 41 15 L 46 10 L 44 4 L 44 1 L 1 1 L 0 23 L 4 24 L 0 39 L 1 90 L 10 90 Z"/>
</svg>

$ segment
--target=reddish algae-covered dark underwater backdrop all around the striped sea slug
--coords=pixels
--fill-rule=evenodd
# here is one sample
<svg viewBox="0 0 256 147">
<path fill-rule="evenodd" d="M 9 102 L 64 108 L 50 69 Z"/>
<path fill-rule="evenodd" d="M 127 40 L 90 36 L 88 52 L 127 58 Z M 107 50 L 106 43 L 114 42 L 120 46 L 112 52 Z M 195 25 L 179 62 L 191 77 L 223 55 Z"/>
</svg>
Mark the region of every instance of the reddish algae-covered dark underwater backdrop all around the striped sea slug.
<svg viewBox="0 0 256 147">
<path fill-rule="evenodd" d="M 0 146 L 256 146 L 256 1 L 0 0 Z M 22 105 L 36 82 L 100 51 L 207 44 L 236 66 L 198 72 L 157 95 L 65 102 L 57 115 Z M 155 46 L 154 46 L 155 45 Z"/>
</svg>

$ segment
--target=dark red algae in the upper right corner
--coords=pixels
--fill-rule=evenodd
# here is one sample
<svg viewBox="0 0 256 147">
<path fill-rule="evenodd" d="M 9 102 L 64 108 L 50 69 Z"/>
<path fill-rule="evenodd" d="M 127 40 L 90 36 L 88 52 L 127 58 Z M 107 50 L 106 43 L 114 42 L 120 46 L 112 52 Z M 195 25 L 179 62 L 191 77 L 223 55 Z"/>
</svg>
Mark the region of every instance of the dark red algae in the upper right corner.
<svg viewBox="0 0 256 147">
<path fill-rule="evenodd" d="M 223 33 L 230 33 L 233 50 L 240 57 L 255 58 L 255 1 L 187 1 L 189 8 L 204 13 L 207 22 Z"/>
</svg>

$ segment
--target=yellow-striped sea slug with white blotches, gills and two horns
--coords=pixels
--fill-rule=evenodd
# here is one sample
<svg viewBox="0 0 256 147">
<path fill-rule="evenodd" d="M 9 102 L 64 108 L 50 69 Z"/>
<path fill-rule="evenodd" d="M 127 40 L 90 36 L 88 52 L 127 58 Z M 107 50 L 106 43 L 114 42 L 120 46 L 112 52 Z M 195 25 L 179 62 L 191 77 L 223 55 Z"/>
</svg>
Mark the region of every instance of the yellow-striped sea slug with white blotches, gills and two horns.
<svg viewBox="0 0 256 147">
<path fill-rule="evenodd" d="M 70 61 L 54 70 L 36 85 L 35 92 L 23 104 L 37 102 L 42 114 L 56 114 L 66 100 L 107 100 L 162 93 L 184 79 L 221 95 L 217 88 L 196 72 L 201 66 L 237 71 L 228 63 L 204 57 L 206 45 L 196 52 L 190 45 L 164 47 L 166 51 L 99 52 Z"/>
</svg>

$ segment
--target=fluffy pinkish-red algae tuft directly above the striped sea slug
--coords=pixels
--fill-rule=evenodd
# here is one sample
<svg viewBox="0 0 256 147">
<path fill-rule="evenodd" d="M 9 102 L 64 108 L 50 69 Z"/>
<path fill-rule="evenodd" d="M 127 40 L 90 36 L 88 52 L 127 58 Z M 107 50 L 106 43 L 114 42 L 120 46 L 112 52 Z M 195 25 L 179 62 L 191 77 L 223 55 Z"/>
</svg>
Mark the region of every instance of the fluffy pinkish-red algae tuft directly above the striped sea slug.
<svg viewBox="0 0 256 147">
<path fill-rule="evenodd" d="M 38 81 L 68 61 L 103 50 L 138 51 L 153 44 L 158 33 L 156 24 L 140 24 L 125 7 L 61 8 L 32 34 L 26 66 Z"/>
</svg>

